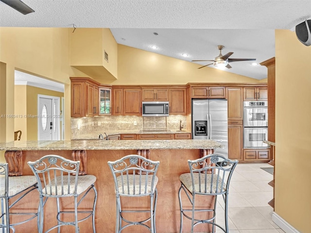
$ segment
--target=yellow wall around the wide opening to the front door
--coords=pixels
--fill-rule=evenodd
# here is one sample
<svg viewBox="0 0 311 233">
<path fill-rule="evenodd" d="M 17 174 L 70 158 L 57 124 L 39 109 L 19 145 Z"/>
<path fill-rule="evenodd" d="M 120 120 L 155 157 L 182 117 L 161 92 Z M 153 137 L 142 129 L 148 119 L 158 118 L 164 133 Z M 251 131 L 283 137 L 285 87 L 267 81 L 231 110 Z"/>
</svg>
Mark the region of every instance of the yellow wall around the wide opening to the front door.
<svg viewBox="0 0 311 233">
<path fill-rule="evenodd" d="M 14 70 L 34 74 L 56 82 L 65 83 L 65 106 L 70 106 L 71 75 L 81 72 L 69 66 L 69 36 L 67 28 L 0 28 L 0 62 L 5 67 L 5 98 L 1 95 L 1 104 L 5 105 L 0 114 L 14 114 Z M 3 68 L 1 68 L 2 70 Z M 1 109 L 2 111 L 2 109 Z M 70 108 L 65 109 L 65 138 L 70 139 Z M 1 142 L 14 140 L 14 119 L 6 119 L 5 132 Z"/>
</svg>

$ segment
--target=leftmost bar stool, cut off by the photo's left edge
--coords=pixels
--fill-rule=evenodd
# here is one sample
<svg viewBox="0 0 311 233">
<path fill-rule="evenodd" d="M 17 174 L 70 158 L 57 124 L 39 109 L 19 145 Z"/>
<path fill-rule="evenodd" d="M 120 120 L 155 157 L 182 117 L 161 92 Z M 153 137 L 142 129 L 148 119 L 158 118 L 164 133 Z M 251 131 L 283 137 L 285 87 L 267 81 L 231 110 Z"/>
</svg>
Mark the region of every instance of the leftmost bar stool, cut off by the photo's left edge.
<svg viewBox="0 0 311 233">
<path fill-rule="evenodd" d="M 37 180 L 35 176 L 8 176 L 8 164 L 0 164 L 0 199 L 1 199 L 1 216 L 0 229 L 2 233 L 9 233 L 10 229 L 15 233 L 15 226 L 26 223 L 34 219 L 38 213 L 30 212 L 14 212 L 11 210 L 19 200 L 23 199 L 27 194 L 37 188 Z M 10 199 L 14 201 L 10 203 Z M 16 199 L 17 198 L 17 199 Z M 10 216 L 18 215 L 21 219 L 17 223 L 10 222 Z M 25 217 L 27 216 L 26 219 Z M 5 231 L 4 231 L 5 229 Z"/>
</svg>

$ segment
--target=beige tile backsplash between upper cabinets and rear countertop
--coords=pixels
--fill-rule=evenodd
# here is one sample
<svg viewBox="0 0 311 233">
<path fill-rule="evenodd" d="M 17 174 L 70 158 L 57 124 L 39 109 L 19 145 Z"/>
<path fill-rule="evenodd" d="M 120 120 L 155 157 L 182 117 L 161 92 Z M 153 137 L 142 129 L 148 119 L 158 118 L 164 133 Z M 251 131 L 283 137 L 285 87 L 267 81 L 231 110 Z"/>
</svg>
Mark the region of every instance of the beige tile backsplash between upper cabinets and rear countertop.
<svg viewBox="0 0 311 233">
<path fill-rule="evenodd" d="M 187 116 L 95 116 L 71 117 L 71 138 L 83 138 L 84 134 L 98 135 L 109 131 L 136 131 L 142 129 L 179 130 L 179 121 L 187 128 Z M 136 125 L 135 125 L 136 122 Z"/>
</svg>

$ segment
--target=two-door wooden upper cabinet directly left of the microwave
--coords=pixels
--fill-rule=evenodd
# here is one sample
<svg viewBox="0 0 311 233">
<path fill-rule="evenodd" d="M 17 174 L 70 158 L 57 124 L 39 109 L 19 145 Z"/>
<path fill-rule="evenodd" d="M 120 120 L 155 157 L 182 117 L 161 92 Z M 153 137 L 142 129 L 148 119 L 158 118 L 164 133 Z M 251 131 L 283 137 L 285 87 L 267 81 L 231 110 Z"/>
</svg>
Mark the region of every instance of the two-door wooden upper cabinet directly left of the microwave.
<svg viewBox="0 0 311 233">
<path fill-rule="evenodd" d="M 112 90 L 112 115 L 141 116 L 141 89 L 116 88 Z"/>
</svg>

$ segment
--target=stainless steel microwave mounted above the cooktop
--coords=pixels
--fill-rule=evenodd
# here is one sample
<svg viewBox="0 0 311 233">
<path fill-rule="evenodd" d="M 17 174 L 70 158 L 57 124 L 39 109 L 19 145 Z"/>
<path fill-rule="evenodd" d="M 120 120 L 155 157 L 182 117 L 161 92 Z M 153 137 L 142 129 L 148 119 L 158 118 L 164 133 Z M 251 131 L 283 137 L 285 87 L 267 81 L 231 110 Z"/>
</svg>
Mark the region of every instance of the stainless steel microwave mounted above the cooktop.
<svg viewBox="0 0 311 233">
<path fill-rule="evenodd" d="M 169 101 L 142 101 L 142 116 L 169 116 Z"/>
</svg>

